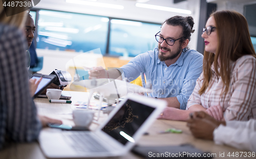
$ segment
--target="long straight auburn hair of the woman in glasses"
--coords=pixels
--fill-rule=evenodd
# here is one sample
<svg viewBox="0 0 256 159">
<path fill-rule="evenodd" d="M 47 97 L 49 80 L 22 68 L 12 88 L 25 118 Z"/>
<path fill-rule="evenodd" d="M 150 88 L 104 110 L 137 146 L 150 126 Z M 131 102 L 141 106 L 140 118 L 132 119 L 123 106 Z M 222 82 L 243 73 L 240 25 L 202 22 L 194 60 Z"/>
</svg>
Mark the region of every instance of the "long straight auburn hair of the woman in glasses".
<svg viewBox="0 0 256 159">
<path fill-rule="evenodd" d="M 237 61 L 245 55 L 251 55 L 256 58 L 256 54 L 251 43 L 248 24 L 245 17 L 236 11 L 218 11 L 212 13 L 216 22 L 216 31 L 218 36 L 218 46 L 216 54 L 204 50 L 203 75 L 204 81 L 199 94 L 202 95 L 212 77 L 211 65 L 218 76 L 223 81 L 223 93 L 227 93 L 230 83 L 230 60 Z M 219 60 L 219 63 L 218 63 Z M 217 66 L 220 66 L 220 72 Z"/>
</svg>

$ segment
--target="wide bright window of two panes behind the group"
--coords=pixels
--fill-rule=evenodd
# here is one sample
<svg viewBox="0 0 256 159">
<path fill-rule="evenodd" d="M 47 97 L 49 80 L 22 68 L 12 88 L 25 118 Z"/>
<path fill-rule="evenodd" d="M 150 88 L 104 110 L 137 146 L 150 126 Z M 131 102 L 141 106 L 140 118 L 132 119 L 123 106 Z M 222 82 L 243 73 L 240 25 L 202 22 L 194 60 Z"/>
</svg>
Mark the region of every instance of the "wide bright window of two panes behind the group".
<svg viewBox="0 0 256 159">
<path fill-rule="evenodd" d="M 42 9 L 37 13 L 37 48 L 76 52 L 100 48 L 102 55 L 135 57 L 158 45 L 154 35 L 161 24 Z M 35 20 L 36 12 L 30 14 Z"/>
</svg>

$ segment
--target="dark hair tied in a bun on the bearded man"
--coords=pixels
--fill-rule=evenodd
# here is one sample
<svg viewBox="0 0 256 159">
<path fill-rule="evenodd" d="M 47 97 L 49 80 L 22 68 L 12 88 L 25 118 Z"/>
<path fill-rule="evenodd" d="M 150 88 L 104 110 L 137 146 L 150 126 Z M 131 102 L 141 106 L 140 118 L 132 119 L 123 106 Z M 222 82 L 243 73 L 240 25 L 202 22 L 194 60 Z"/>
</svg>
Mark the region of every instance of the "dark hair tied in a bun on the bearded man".
<svg viewBox="0 0 256 159">
<path fill-rule="evenodd" d="M 181 26 L 182 27 L 182 38 L 180 40 L 180 43 L 182 43 L 184 40 L 188 39 L 191 40 L 191 33 L 194 33 L 195 30 L 193 30 L 194 27 L 194 18 L 191 16 L 183 17 L 183 16 L 174 16 L 169 19 L 166 19 L 163 24 L 166 22 L 168 25 L 173 26 Z M 188 50 L 188 46 L 184 48 L 185 50 Z"/>
</svg>

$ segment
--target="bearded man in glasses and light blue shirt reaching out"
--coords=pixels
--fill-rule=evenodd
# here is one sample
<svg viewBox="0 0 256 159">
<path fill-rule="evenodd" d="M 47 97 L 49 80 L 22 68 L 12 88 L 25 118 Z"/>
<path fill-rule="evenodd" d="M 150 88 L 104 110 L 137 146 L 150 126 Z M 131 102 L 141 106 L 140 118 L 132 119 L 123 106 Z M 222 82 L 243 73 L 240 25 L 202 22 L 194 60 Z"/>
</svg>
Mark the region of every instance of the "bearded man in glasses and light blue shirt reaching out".
<svg viewBox="0 0 256 159">
<path fill-rule="evenodd" d="M 193 26 L 191 16 L 169 18 L 155 35 L 158 48 L 136 56 L 121 68 L 106 71 L 96 67 L 90 77 L 127 78 L 131 82 L 143 72 L 146 82 L 152 84 L 153 93 L 148 96 L 162 98 L 169 107 L 185 110 L 203 67 L 203 55 L 187 46 L 195 31 Z"/>
</svg>

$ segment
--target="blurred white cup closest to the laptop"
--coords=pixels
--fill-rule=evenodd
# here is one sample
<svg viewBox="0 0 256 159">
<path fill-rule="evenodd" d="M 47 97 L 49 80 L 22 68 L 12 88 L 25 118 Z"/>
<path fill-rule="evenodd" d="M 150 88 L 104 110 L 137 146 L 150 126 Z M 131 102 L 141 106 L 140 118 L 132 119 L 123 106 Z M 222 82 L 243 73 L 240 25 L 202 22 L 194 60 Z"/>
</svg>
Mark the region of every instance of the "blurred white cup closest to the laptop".
<svg viewBox="0 0 256 159">
<path fill-rule="evenodd" d="M 89 127 L 93 121 L 95 111 L 73 110 L 73 121 L 76 126 Z"/>
</svg>

